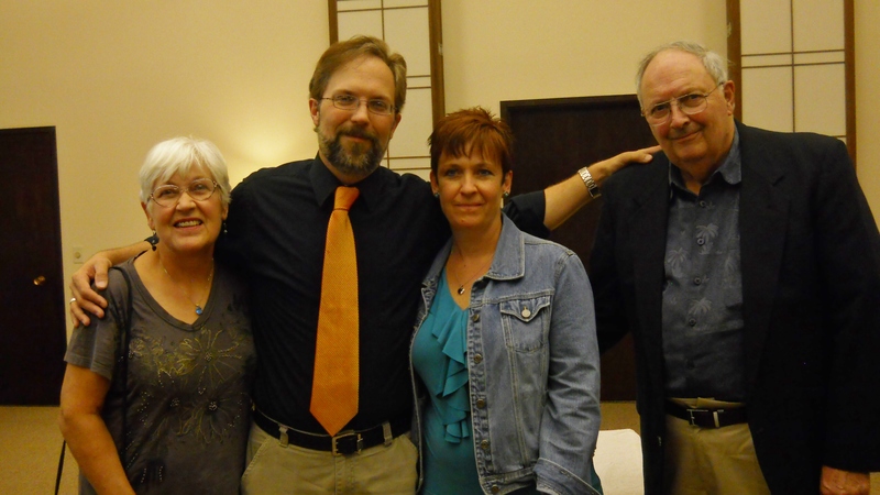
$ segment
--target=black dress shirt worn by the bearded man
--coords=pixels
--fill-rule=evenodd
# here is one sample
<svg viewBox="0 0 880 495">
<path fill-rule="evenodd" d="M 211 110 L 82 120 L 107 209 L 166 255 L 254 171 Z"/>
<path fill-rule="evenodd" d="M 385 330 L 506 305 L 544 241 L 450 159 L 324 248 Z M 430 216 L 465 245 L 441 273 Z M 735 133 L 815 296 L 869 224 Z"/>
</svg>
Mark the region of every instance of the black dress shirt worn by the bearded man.
<svg viewBox="0 0 880 495">
<path fill-rule="evenodd" d="M 265 415 L 299 430 L 326 433 L 309 413 L 327 223 L 341 184 L 320 158 L 264 168 L 232 191 L 228 233 L 218 256 L 251 286 L 258 373 L 254 400 Z M 349 216 L 358 253 L 360 306 L 359 413 L 345 429 L 364 429 L 413 408 L 408 350 L 420 285 L 449 239 L 430 186 L 380 167 L 355 185 Z M 543 233 L 543 194 L 515 199 L 505 211 Z"/>
</svg>

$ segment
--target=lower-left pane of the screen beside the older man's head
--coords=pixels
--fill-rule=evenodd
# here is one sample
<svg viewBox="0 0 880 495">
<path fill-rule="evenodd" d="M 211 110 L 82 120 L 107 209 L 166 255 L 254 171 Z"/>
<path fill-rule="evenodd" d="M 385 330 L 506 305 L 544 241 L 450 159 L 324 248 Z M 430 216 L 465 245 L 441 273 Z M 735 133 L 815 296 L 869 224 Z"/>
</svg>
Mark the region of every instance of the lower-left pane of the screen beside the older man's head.
<svg viewBox="0 0 880 495">
<path fill-rule="evenodd" d="M 792 119 L 791 67 L 743 70 L 743 122 L 780 132 L 794 129 Z"/>
</svg>

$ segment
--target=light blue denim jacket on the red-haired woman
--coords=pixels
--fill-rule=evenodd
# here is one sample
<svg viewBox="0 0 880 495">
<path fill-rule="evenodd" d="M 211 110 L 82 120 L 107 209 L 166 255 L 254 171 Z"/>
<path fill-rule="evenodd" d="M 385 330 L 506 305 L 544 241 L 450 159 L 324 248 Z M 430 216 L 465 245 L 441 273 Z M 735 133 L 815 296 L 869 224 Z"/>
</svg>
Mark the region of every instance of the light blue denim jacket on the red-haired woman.
<svg viewBox="0 0 880 495">
<path fill-rule="evenodd" d="M 590 282 L 573 252 L 502 218 L 492 266 L 471 289 L 466 329 L 480 484 L 487 494 L 532 481 L 543 493 L 595 494 L 590 480 L 601 416 L 600 355 Z M 440 251 L 422 283 L 416 332 L 451 246 Z M 410 370 L 411 359 L 410 346 Z M 416 383 L 414 376 L 418 388 Z M 424 397 L 414 393 L 414 441 L 421 451 Z"/>
</svg>

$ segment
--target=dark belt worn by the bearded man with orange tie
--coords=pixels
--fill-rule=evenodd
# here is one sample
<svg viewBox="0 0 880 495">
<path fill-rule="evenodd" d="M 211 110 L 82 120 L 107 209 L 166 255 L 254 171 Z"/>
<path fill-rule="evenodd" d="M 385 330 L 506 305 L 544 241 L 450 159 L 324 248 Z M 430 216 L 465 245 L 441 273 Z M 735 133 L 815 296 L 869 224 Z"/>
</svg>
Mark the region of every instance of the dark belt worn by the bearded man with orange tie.
<svg viewBox="0 0 880 495">
<path fill-rule="evenodd" d="M 383 443 L 391 444 L 392 439 L 406 433 L 411 426 L 411 418 L 407 416 L 365 430 L 345 430 L 340 431 L 336 437 L 330 437 L 329 435 L 295 430 L 260 413 L 258 409 L 253 411 L 253 419 L 256 426 L 277 438 L 284 447 L 293 443 L 305 449 L 333 452 L 333 454 L 352 454 Z"/>
</svg>

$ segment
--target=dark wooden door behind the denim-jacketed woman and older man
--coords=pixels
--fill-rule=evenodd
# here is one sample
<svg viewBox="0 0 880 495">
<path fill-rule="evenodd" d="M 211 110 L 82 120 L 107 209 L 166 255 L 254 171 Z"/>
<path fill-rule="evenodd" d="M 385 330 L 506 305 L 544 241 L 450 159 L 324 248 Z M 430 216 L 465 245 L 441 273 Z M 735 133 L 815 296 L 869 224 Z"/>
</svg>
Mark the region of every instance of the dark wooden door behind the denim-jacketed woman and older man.
<svg viewBox="0 0 880 495">
<path fill-rule="evenodd" d="M 502 118 L 514 131 L 513 194 L 543 189 L 582 166 L 656 143 L 635 95 L 502 101 Z M 602 198 L 581 209 L 551 239 L 588 265 L 601 211 Z M 631 336 L 602 355 L 602 399 L 636 399 Z"/>
</svg>

